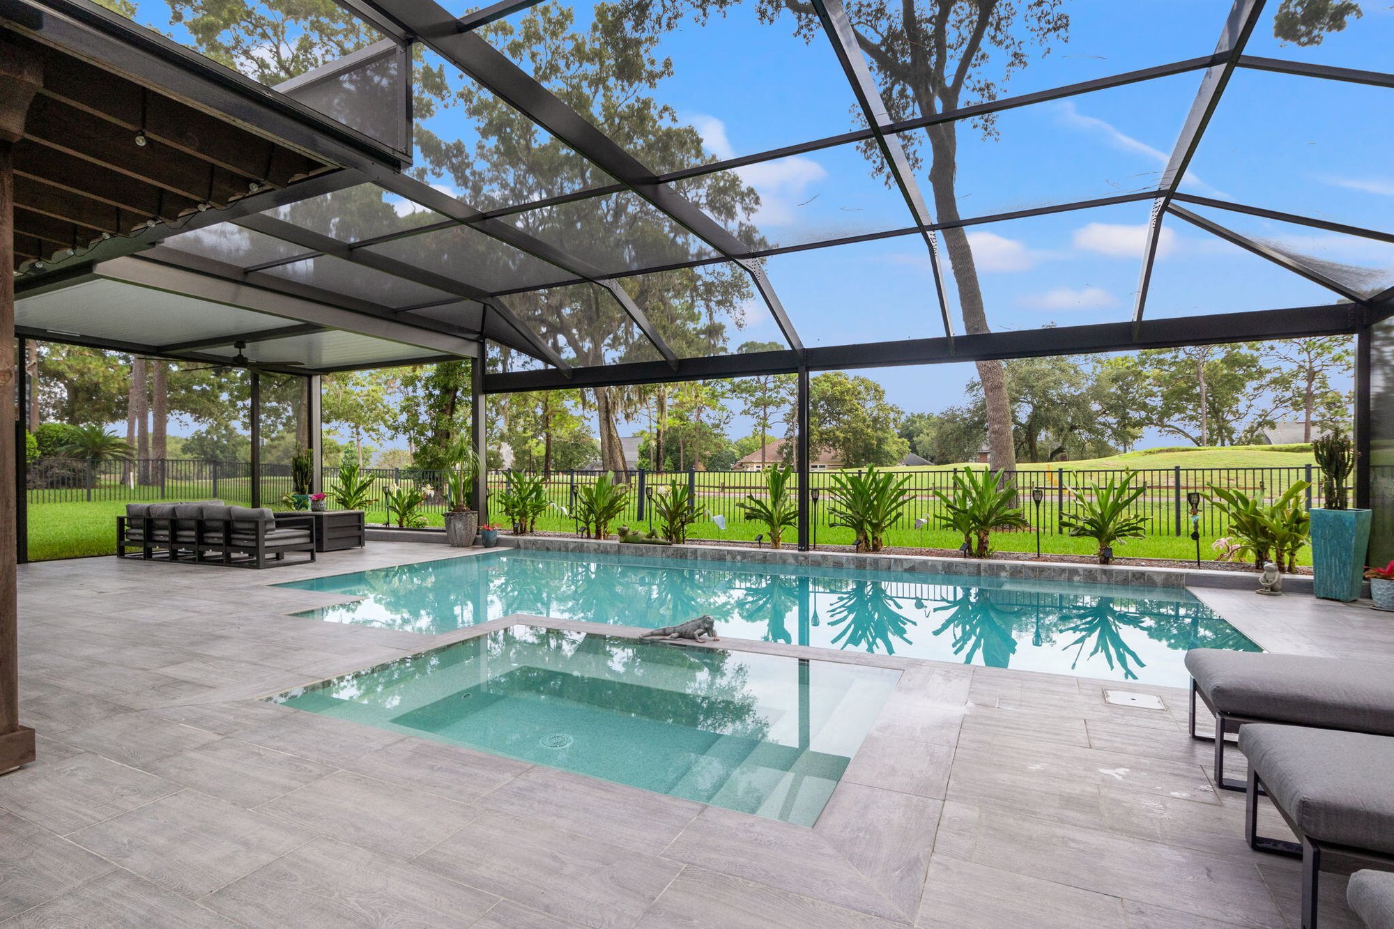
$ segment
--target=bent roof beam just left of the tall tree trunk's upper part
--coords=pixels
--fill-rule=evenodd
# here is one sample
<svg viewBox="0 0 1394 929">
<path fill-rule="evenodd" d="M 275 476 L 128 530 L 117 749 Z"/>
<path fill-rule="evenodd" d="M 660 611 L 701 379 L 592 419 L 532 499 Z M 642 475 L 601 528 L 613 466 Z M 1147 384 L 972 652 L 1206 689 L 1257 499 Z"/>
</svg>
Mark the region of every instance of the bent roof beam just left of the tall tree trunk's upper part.
<svg viewBox="0 0 1394 929">
<path fill-rule="evenodd" d="M 930 208 L 924 202 L 924 195 L 914 180 L 914 170 L 910 167 L 910 159 L 906 156 L 899 137 L 882 128 L 889 121 L 885 112 L 885 100 L 881 98 L 881 89 L 875 85 L 866 57 L 861 54 L 861 47 L 857 45 L 856 29 L 852 27 L 852 20 L 848 17 L 842 0 L 810 1 L 818 13 L 824 33 L 827 33 L 828 40 L 832 43 L 832 53 L 838 56 L 842 73 L 852 86 L 852 95 L 861 109 L 861 116 L 875 135 L 877 148 L 881 149 L 887 170 L 891 172 L 891 179 L 901 191 L 901 197 L 914 218 L 914 223 L 920 227 L 920 237 L 930 252 L 930 271 L 934 273 L 934 297 L 940 307 L 944 335 L 952 339 L 953 318 L 949 314 L 948 296 L 944 293 L 944 271 L 940 266 L 940 248 L 935 241 L 935 233 L 926 232 L 928 225 L 934 222 L 934 216 L 930 215 Z"/>
</svg>

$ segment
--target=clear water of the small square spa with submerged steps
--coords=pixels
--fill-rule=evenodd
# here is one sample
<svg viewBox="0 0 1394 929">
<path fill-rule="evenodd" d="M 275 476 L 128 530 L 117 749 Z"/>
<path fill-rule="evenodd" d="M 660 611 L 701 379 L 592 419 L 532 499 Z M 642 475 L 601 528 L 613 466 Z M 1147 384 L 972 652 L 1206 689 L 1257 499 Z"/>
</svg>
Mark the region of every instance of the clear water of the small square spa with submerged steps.
<svg viewBox="0 0 1394 929">
<path fill-rule="evenodd" d="M 813 826 L 899 677 L 519 625 L 273 699 Z"/>
</svg>

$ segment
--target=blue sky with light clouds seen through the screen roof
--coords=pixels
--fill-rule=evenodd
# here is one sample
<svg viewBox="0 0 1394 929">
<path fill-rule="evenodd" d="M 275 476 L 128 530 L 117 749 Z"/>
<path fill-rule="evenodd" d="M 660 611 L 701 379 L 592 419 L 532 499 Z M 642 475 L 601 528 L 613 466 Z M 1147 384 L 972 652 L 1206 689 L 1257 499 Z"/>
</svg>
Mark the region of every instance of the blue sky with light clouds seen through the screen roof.
<svg viewBox="0 0 1394 929">
<path fill-rule="evenodd" d="M 459 13 L 467 3 L 452 6 Z M 1273 38 L 1271 1 L 1248 52 L 1344 67 L 1394 71 L 1394 6 L 1365 1 L 1363 18 L 1320 46 Z M 145 0 L 142 17 L 163 15 Z M 1069 40 L 1032 59 L 1005 86 L 1023 93 L 1172 60 L 1209 54 L 1228 0 L 1065 0 Z M 576 6 L 577 24 L 591 15 Z M 169 29 L 166 22 L 155 22 Z M 177 31 L 176 31 L 177 35 Z M 825 36 L 793 35 L 785 15 L 757 21 L 753 3 L 705 25 L 664 36 L 659 56 L 673 77 L 655 96 L 694 126 L 718 158 L 765 151 L 861 126 Z M 988 64 L 988 73 L 998 66 Z M 958 206 L 988 215 L 1144 190 L 1156 183 L 1199 86 L 1200 73 L 1040 103 L 998 117 L 997 138 L 959 131 Z M 1182 190 L 1394 232 L 1394 91 L 1259 71 L 1238 71 Z M 473 138 L 459 116 L 431 123 L 446 138 Z M 873 176 L 859 149 L 842 146 L 742 169 L 761 195 L 756 216 L 776 244 L 903 227 L 896 192 Z M 921 188 L 935 208 L 923 177 Z M 1149 204 L 973 226 L 988 322 L 994 329 L 1079 325 L 1131 318 Z M 1282 248 L 1359 268 L 1369 289 L 1394 285 L 1394 247 L 1202 211 L 1209 219 Z M 809 345 L 942 335 L 924 247 L 913 236 L 795 252 L 767 265 Z M 952 271 L 945 262 L 955 328 L 962 331 Z M 1228 312 L 1333 303 L 1338 296 L 1168 218 L 1158 250 L 1149 317 Z M 776 339 L 768 312 L 747 307 L 733 333 Z M 965 365 L 881 370 L 894 402 L 937 410 L 962 400 Z M 739 424 L 737 424 L 739 428 Z"/>
</svg>

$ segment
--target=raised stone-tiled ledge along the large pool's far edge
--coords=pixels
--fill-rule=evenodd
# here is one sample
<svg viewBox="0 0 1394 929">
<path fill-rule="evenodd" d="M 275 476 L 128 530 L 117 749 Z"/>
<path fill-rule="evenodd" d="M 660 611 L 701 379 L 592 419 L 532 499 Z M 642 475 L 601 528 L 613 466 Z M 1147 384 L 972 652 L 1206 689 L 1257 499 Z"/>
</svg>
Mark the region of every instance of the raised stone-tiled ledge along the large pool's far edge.
<svg viewBox="0 0 1394 929">
<path fill-rule="evenodd" d="M 502 537 L 500 537 L 502 541 Z M 1079 565 L 1040 561 L 999 561 L 977 558 L 930 558 L 924 555 L 856 555 L 834 551 L 797 551 L 792 548 L 742 548 L 735 545 L 633 545 L 597 538 L 558 538 L 555 536 L 512 537 L 514 547 L 527 551 L 572 551 L 640 558 L 691 558 L 696 561 L 763 562 L 814 568 L 860 568 L 923 575 L 962 575 L 969 577 L 1005 577 L 1022 580 L 1065 580 L 1092 584 L 1128 584 L 1135 587 L 1257 587 L 1257 575 L 1232 571 L 1178 571 L 1175 568 L 1135 568 L 1122 565 Z M 1295 594 L 1312 591 L 1312 579 L 1285 576 L 1284 590 Z"/>
</svg>

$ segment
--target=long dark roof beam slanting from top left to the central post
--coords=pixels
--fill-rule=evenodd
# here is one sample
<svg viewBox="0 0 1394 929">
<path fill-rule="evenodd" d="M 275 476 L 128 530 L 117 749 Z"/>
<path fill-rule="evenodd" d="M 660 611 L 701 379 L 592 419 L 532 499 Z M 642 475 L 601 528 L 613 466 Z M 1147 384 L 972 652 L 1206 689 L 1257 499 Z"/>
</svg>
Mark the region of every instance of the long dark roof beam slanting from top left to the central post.
<svg viewBox="0 0 1394 929">
<path fill-rule="evenodd" d="M 730 259 L 749 251 L 749 246 L 736 239 L 725 226 L 703 212 L 677 190 L 658 183 L 652 170 L 523 71 L 507 56 L 477 33 L 461 32 L 456 17 L 434 0 L 371 1 L 386 15 L 404 24 L 422 42 L 468 74 L 477 84 L 570 145 L 581 156 L 590 159 L 715 251 Z M 742 264 L 742 266 L 747 272 L 750 271 L 747 265 Z M 768 280 L 763 275 L 754 273 L 751 273 L 751 280 L 789 346 L 802 350 L 803 343 L 799 340 L 783 304 L 774 296 Z"/>
</svg>

